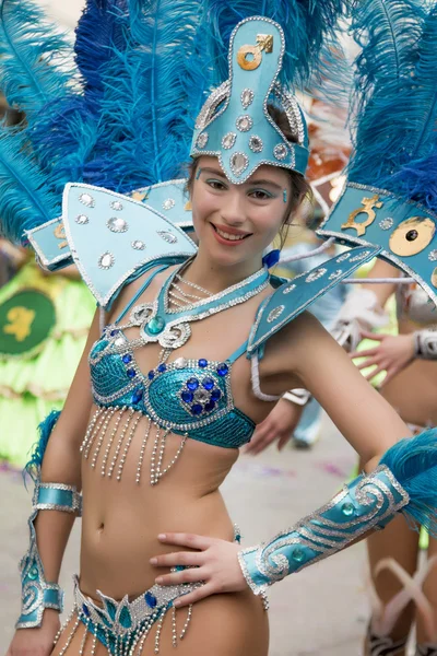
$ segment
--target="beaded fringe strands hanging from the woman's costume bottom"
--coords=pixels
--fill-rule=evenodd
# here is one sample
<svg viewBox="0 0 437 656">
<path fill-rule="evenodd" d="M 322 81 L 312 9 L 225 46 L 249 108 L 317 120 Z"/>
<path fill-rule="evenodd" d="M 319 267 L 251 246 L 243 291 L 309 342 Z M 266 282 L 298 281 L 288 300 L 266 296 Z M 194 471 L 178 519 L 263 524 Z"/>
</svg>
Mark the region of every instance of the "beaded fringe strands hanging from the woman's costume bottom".
<svg viewBox="0 0 437 656">
<path fill-rule="evenodd" d="M 165 617 L 169 609 L 172 609 L 172 643 L 173 643 L 173 646 L 176 648 L 177 644 L 178 644 L 178 640 L 179 641 L 184 640 L 184 637 L 187 633 L 188 626 L 191 622 L 192 604 L 190 604 L 190 606 L 188 607 L 187 619 L 186 619 L 182 630 L 179 634 L 178 634 L 177 623 L 176 623 L 176 612 L 177 612 L 176 608 L 174 606 L 167 607 L 164 609 L 161 608 L 147 618 L 147 621 L 144 626 L 141 626 L 141 628 L 139 626 L 139 628 L 134 629 L 132 631 L 132 633 L 130 633 L 127 636 L 128 642 L 123 641 L 121 636 L 117 636 L 116 643 L 115 643 L 115 652 L 113 653 L 108 648 L 108 654 L 110 654 L 111 656 L 133 656 L 133 655 L 141 656 L 143 654 L 145 641 L 155 623 L 156 623 L 156 635 L 155 635 L 154 653 L 160 654 L 161 632 L 163 629 Z M 82 612 L 82 610 L 76 605 L 73 606 L 71 613 L 69 614 L 69 617 L 62 624 L 61 629 L 59 630 L 57 636 L 55 637 L 54 646 L 56 646 L 58 644 L 61 635 L 66 631 L 67 626 L 70 624 L 74 614 L 76 614 L 76 619 L 74 621 L 74 624 L 73 624 L 70 633 L 67 636 L 66 644 L 59 652 L 59 656 L 64 656 L 64 654 L 67 653 L 67 649 L 69 648 L 69 646 L 71 645 L 71 643 L 73 641 L 74 635 L 78 633 L 81 624 L 83 624 L 85 626 L 85 632 L 83 634 L 81 647 L 79 651 L 79 656 L 85 655 L 85 646 L 86 646 L 86 643 L 88 642 L 87 641 L 88 637 L 92 637 L 92 644 L 91 644 L 90 655 L 86 655 L 86 656 L 95 656 L 96 648 L 97 648 L 97 636 L 94 635 L 92 633 L 92 631 L 90 630 L 90 625 L 93 622 Z M 109 645 L 110 633 L 107 629 L 104 629 L 104 632 L 105 632 L 106 643 L 107 643 L 107 645 Z"/>
</svg>

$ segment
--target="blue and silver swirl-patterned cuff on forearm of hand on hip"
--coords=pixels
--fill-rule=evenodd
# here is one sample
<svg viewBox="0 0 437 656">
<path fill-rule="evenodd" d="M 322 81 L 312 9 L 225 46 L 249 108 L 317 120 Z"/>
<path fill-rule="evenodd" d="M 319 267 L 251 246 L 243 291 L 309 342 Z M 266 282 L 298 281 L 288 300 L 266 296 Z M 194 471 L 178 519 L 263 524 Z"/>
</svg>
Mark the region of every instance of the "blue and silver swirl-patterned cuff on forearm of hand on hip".
<svg viewBox="0 0 437 656">
<path fill-rule="evenodd" d="M 238 553 L 256 595 L 268 586 L 344 549 L 373 528 L 383 528 L 410 501 L 390 469 L 359 476 L 318 512 L 275 536 L 268 544 Z"/>
</svg>

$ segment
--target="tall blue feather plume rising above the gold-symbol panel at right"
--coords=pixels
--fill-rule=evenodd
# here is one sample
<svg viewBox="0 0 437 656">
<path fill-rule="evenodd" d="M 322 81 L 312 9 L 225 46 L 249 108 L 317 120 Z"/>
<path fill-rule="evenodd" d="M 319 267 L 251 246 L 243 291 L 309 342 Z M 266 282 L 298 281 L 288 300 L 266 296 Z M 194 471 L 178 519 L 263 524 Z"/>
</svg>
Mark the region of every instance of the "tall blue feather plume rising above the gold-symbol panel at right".
<svg viewBox="0 0 437 656">
<path fill-rule="evenodd" d="M 411 8 L 411 3 L 408 7 Z M 349 166 L 352 180 L 365 185 L 375 185 L 377 181 L 379 187 L 404 198 L 410 198 L 408 176 L 395 174 L 404 166 L 411 169 L 415 163 L 423 163 L 430 156 L 437 142 L 437 8 L 434 7 L 425 19 L 420 11 L 416 23 L 422 35 L 417 40 L 417 31 L 409 31 L 412 38 L 410 58 L 405 43 L 408 34 L 402 33 L 404 20 L 401 11 L 395 20 L 393 17 L 386 25 L 385 31 L 378 33 L 378 38 L 374 35 L 371 47 L 366 46 L 363 51 L 358 84 L 363 84 L 367 67 L 369 83 L 364 83 L 364 93 L 371 87 L 374 91 L 364 98 L 358 116 L 355 152 Z M 378 62 L 385 57 L 386 32 L 390 33 L 391 38 L 399 31 L 402 33 L 402 48 L 399 48 L 402 57 L 392 59 L 392 63 L 399 61 L 400 66 L 385 72 Z M 418 191 L 417 185 L 418 177 L 415 176 L 415 196 L 426 196 Z"/>
</svg>

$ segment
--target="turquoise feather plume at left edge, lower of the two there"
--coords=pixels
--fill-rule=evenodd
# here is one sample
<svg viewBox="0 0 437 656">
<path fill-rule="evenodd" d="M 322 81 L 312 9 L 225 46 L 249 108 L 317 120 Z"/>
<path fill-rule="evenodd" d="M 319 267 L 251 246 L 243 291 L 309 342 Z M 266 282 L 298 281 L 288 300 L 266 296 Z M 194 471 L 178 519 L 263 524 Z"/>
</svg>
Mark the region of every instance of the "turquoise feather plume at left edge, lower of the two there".
<svg viewBox="0 0 437 656">
<path fill-rule="evenodd" d="M 60 213 L 60 198 L 50 194 L 46 177 L 29 153 L 28 141 L 15 128 L 0 133 L 0 234 L 20 242 L 29 230 Z"/>
</svg>

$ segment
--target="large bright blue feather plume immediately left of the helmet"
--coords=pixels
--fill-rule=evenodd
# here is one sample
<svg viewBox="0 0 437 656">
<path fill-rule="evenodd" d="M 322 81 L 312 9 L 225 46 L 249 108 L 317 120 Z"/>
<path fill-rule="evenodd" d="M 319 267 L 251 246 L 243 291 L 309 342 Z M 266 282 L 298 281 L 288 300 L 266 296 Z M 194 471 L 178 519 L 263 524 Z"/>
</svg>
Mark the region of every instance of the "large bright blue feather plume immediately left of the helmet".
<svg viewBox="0 0 437 656">
<path fill-rule="evenodd" d="M 105 134 L 93 162 L 93 184 L 118 191 L 179 175 L 210 82 L 204 58 L 193 55 L 199 0 L 130 0 L 129 8 L 129 47 L 113 48 L 102 69 Z"/>
</svg>

